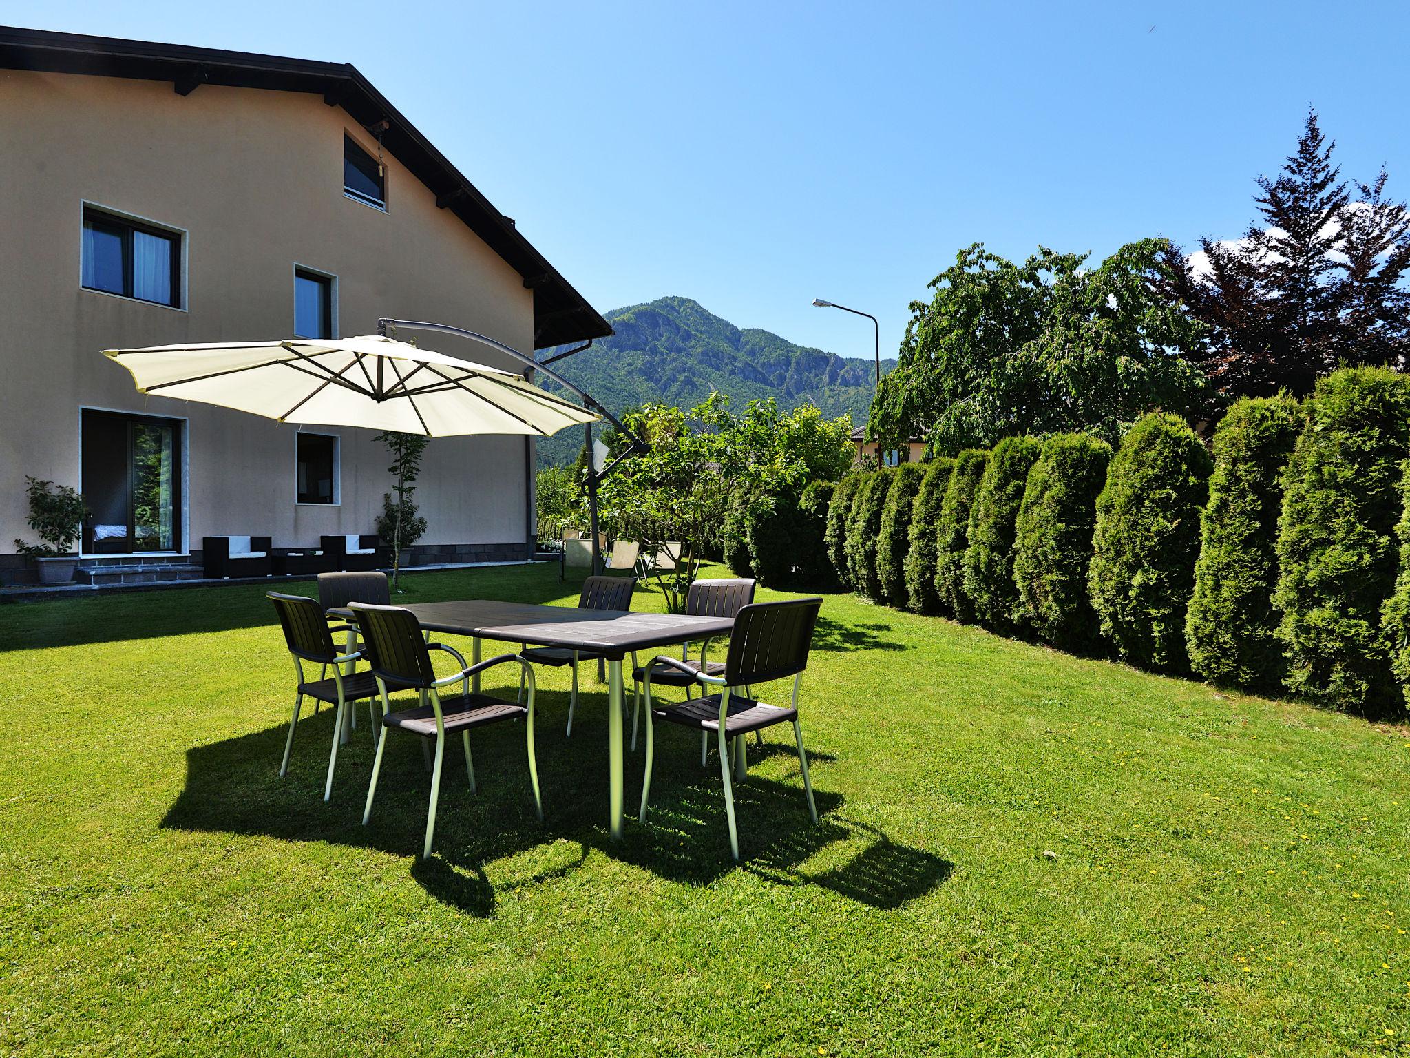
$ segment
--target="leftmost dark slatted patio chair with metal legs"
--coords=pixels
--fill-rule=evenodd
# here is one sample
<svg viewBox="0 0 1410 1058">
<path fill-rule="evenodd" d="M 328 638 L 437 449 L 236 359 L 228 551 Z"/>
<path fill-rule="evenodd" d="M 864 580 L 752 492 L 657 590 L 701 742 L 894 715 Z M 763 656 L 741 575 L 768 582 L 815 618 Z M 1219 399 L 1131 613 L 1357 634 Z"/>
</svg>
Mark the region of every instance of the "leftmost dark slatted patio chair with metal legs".
<svg viewBox="0 0 1410 1058">
<path fill-rule="evenodd" d="M 283 742 L 283 762 L 279 765 L 279 777 L 289 773 L 289 753 L 293 750 L 293 731 L 299 725 L 299 710 L 303 708 L 305 697 L 317 703 L 329 703 L 337 707 L 333 714 L 333 750 L 329 753 L 329 779 L 323 784 L 323 800 L 333 796 L 333 767 L 338 762 L 338 742 L 343 738 L 343 721 L 351 703 L 362 698 L 376 697 L 376 681 L 372 673 L 354 673 L 352 664 L 361 657 L 358 650 L 348 649 L 338 653 L 333 645 L 333 633 L 347 631 L 345 625 L 329 628 L 329 621 L 307 595 L 282 595 L 271 591 L 266 598 L 274 602 L 275 612 L 279 614 L 279 625 L 283 628 L 283 642 L 293 656 L 293 670 L 298 676 L 293 697 L 293 719 L 289 721 L 289 738 Z M 303 663 L 313 662 L 323 666 L 317 680 L 309 680 L 303 671 Z M 343 666 L 348 671 L 343 671 Z M 329 667 L 333 667 L 333 677 L 329 679 Z M 317 711 L 317 710 L 314 710 Z"/>
</svg>

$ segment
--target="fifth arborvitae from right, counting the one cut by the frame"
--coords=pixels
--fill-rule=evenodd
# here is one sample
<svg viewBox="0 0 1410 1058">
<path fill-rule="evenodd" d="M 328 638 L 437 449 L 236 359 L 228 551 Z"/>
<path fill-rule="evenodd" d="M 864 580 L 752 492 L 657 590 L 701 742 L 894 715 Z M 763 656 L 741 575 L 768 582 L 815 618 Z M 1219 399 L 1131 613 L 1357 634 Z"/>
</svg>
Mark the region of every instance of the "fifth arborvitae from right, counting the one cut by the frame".
<svg viewBox="0 0 1410 1058">
<path fill-rule="evenodd" d="M 1111 446 L 1090 433 L 1043 442 L 1028 471 L 1014 539 L 1014 584 L 1024 621 L 1045 642 L 1090 650 L 1098 640 L 1087 590 L 1097 497 Z"/>
</svg>

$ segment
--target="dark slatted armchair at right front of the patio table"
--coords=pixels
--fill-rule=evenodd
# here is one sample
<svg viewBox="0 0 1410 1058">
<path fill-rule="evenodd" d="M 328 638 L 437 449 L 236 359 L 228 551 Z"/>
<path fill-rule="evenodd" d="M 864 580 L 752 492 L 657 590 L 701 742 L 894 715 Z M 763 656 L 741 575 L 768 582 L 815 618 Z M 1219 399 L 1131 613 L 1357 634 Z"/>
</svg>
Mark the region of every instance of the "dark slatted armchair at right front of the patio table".
<svg viewBox="0 0 1410 1058">
<path fill-rule="evenodd" d="M 725 780 L 725 815 L 729 818 L 729 851 L 739 859 L 739 832 L 735 828 L 735 793 L 730 786 L 730 760 L 735 774 L 744 777 L 744 735 L 750 731 L 774 724 L 792 722 L 794 742 L 798 746 L 798 766 L 802 772 L 802 789 L 808 796 L 808 814 L 818 821 L 818 805 L 812 798 L 812 782 L 808 779 L 808 753 L 802 748 L 802 728 L 798 725 L 798 684 L 808 667 L 808 652 L 812 647 L 812 629 L 818 624 L 821 598 L 785 600 L 783 602 L 754 602 L 739 611 L 735 631 L 729 638 L 729 653 L 725 655 L 725 671 L 721 676 L 692 669 L 670 655 L 660 655 L 646 670 L 646 694 L 650 701 L 651 669 L 663 663 L 685 673 L 702 687 L 718 687 L 713 694 L 691 698 L 681 705 L 666 708 L 651 707 L 646 711 L 646 779 L 642 782 L 642 811 L 639 822 L 646 822 L 646 803 L 651 793 L 651 765 L 656 756 L 656 721 L 680 724 L 705 732 L 715 732 L 719 741 L 719 772 Z M 752 684 L 770 683 L 794 677 L 792 704 L 788 708 L 768 705 L 750 694 L 737 694 Z"/>
</svg>

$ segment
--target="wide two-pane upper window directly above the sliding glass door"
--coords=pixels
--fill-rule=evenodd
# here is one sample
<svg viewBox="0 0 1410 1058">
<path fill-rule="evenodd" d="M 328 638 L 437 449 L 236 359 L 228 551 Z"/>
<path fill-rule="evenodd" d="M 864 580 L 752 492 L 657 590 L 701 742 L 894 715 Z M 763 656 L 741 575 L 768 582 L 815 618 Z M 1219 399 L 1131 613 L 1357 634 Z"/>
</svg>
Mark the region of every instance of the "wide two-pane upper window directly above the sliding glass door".
<svg viewBox="0 0 1410 1058">
<path fill-rule="evenodd" d="M 180 236 L 85 207 L 83 286 L 180 308 Z"/>
</svg>

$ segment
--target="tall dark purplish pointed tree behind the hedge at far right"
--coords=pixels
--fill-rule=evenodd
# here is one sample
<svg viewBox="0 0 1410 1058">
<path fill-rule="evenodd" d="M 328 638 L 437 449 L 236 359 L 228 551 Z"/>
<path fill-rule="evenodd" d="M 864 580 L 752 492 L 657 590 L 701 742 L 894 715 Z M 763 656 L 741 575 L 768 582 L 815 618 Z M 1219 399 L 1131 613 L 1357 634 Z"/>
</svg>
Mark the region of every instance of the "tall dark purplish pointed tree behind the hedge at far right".
<svg viewBox="0 0 1410 1058">
<path fill-rule="evenodd" d="M 1194 355 L 1228 396 L 1296 396 L 1338 364 L 1410 353 L 1410 214 L 1386 174 L 1348 185 L 1308 111 L 1297 150 L 1258 181 L 1259 220 L 1241 240 L 1169 251 L 1163 291 L 1210 327 Z"/>
</svg>

